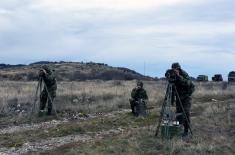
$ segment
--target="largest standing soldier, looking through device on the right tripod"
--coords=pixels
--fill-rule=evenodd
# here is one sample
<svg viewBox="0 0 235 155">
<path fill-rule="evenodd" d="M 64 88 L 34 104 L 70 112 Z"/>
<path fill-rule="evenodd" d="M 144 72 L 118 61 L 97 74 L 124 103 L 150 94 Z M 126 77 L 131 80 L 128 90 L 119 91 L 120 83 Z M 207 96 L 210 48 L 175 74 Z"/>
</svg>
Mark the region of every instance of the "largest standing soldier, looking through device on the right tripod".
<svg viewBox="0 0 235 155">
<path fill-rule="evenodd" d="M 180 100 L 178 98 L 176 100 L 176 113 L 181 113 L 181 115 L 177 116 L 177 120 L 184 126 L 184 133 L 182 136 L 185 137 L 188 136 L 188 130 L 190 128 L 190 109 L 192 102 L 191 96 L 195 88 L 194 84 L 190 80 L 189 75 L 183 69 L 181 69 L 179 63 L 173 63 L 171 68 L 176 74 L 176 80 L 174 84 L 180 98 Z M 173 94 L 175 96 L 176 92 L 173 92 Z M 183 112 L 185 112 L 186 117 Z"/>
</svg>

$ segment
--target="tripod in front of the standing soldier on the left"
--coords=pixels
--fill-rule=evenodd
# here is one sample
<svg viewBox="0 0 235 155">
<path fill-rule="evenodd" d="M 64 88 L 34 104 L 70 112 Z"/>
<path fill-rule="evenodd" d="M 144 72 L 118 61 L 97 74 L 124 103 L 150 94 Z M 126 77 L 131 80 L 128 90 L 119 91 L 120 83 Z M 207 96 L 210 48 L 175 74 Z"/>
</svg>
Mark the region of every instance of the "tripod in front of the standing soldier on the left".
<svg viewBox="0 0 235 155">
<path fill-rule="evenodd" d="M 48 87 L 47 87 L 45 81 L 43 80 L 43 78 L 40 77 L 39 80 L 38 80 L 37 87 L 36 87 L 36 92 L 35 92 L 35 96 L 34 96 L 34 102 L 33 102 L 32 110 L 31 110 L 31 118 L 30 119 L 32 119 L 33 114 L 37 111 L 36 109 L 39 109 L 37 101 L 38 101 L 38 98 L 39 98 L 38 97 L 39 94 L 42 92 L 42 86 L 44 86 L 44 89 L 46 90 L 46 93 L 48 95 L 47 105 L 48 105 L 48 102 L 51 102 L 52 107 L 53 107 L 52 109 L 54 109 L 55 115 L 58 118 L 56 107 L 55 107 L 55 104 L 53 103 L 53 99 L 52 99 L 52 97 L 51 97 L 51 95 L 48 91 Z"/>
</svg>

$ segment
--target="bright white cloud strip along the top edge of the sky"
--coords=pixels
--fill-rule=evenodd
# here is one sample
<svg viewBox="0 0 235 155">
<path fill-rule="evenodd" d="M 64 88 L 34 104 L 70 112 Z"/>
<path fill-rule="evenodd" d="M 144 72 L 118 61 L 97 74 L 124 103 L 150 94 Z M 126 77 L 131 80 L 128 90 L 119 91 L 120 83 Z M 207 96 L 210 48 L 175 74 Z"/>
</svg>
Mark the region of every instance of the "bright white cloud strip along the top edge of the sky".
<svg viewBox="0 0 235 155">
<path fill-rule="evenodd" d="M 36 0 L 35 8 L 43 8 L 54 11 L 74 10 L 138 10 L 169 6 L 184 2 L 185 0 Z"/>
</svg>

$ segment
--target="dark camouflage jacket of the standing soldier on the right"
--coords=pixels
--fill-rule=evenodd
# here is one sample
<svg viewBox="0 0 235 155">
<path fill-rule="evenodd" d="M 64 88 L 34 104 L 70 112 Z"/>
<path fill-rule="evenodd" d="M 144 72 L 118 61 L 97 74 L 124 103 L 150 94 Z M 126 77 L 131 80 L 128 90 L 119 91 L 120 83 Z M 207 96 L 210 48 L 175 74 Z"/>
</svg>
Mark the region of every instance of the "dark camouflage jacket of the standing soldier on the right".
<svg viewBox="0 0 235 155">
<path fill-rule="evenodd" d="M 191 96 L 195 90 L 188 73 L 182 69 L 180 70 L 180 76 L 175 81 L 175 86 L 180 96 Z"/>
</svg>

